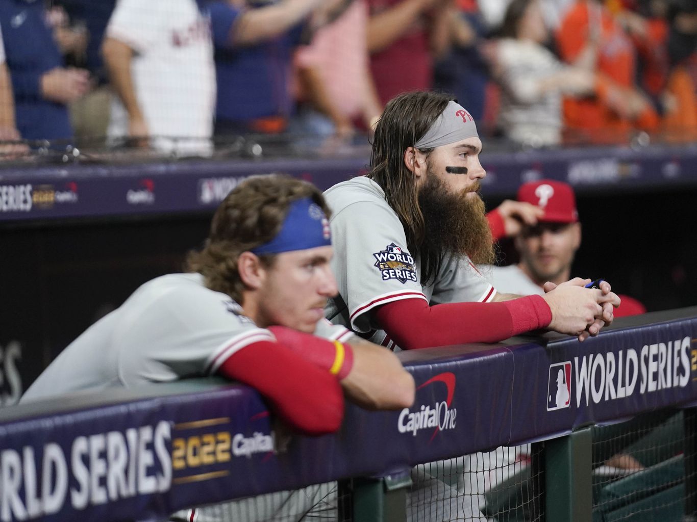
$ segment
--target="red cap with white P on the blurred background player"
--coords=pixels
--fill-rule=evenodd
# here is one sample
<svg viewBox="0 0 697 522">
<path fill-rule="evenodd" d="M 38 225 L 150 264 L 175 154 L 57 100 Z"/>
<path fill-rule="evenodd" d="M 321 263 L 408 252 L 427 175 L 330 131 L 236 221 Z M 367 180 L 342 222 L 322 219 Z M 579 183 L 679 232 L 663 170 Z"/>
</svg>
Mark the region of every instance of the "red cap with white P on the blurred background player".
<svg viewBox="0 0 697 522">
<path fill-rule="evenodd" d="M 544 209 L 539 221 L 549 223 L 576 223 L 576 196 L 571 185 L 554 180 L 539 180 L 522 184 L 518 189 L 519 201 L 526 201 Z"/>
</svg>

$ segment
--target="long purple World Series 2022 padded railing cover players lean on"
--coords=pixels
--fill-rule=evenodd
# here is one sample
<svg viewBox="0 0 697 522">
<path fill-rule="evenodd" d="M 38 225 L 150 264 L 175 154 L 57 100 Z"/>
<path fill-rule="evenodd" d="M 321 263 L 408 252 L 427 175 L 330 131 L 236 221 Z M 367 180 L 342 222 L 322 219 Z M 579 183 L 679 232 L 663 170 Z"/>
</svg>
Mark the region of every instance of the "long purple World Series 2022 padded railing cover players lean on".
<svg viewBox="0 0 697 522">
<path fill-rule="evenodd" d="M 417 388 L 412 406 L 372 412 L 347 404 L 339 432 L 320 437 L 282 429 L 244 386 L 201 391 L 183 381 L 143 392 L 177 395 L 109 395 L 130 397 L 123 404 L 77 394 L 0 409 L 0 520 L 165 519 L 192 505 L 384 475 L 694 403 L 697 317 L 690 313 L 697 309 L 583 343 L 406 353 Z M 54 413 L 66 403 L 81 406 Z"/>
</svg>

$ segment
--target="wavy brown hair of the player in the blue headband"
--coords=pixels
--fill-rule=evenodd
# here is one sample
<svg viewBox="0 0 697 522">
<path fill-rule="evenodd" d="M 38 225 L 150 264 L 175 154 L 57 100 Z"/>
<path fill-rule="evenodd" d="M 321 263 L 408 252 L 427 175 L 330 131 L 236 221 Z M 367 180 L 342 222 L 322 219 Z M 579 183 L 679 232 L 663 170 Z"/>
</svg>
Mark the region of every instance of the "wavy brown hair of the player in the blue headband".
<svg viewBox="0 0 697 522">
<path fill-rule="evenodd" d="M 206 287 L 243 305 L 245 284 L 237 269 L 240 254 L 276 237 L 291 203 L 302 198 L 311 198 L 330 216 L 322 193 L 311 183 L 281 174 L 247 178 L 217 207 L 204 248 L 189 253 L 186 271 L 203 274 Z M 259 259 L 270 267 L 276 255 Z"/>
</svg>

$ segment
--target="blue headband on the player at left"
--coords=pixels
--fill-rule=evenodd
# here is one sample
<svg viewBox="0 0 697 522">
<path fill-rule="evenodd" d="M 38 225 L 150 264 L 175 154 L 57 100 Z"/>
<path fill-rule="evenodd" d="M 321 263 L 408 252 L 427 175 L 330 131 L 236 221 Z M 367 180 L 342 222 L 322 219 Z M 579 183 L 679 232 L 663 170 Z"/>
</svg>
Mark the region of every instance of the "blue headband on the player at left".
<svg viewBox="0 0 697 522">
<path fill-rule="evenodd" d="M 291 203 L 281 231 L 270 242 L 252 248 L 250 252 L 277 254 L 293 250 L 306 250 L 332 244 L 329 220 L 319 205 L 310 198 Z"/>
</svg>

